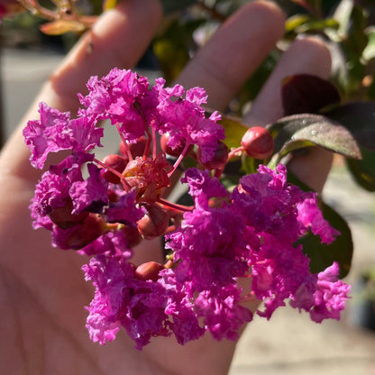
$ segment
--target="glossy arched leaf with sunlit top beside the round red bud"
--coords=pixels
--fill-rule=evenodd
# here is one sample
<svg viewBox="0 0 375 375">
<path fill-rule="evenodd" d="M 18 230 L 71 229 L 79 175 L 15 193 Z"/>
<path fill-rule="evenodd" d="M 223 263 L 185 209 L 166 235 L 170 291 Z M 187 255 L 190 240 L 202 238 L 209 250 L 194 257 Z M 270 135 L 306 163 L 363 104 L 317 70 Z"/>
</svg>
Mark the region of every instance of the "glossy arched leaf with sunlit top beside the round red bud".
<svg viewBox="0 0 375 375">
<path fill-rule="evenodd" d="M 321 114 L 293 114 L 268 128 L 281 159 L 288 152 L 317 145 L 347 158 L 361 159 L 361 151 L 352 134 L 341 124 Z"/>
</svg>

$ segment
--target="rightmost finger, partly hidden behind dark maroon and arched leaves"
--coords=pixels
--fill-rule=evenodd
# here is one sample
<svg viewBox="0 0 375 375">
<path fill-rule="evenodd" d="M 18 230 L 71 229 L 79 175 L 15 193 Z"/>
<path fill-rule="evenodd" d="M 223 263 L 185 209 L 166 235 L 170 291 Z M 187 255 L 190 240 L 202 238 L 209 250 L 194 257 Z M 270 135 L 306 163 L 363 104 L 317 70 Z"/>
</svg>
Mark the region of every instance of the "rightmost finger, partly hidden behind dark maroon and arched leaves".
<svg viewBox="0 0 375 375">
<path fill-rule="evenodd" d="M 328 78 L 330 72 L 331 55 L 323 41 L 316 38 L 295 41 L 279 60 L 277 68 L 254 101 L 250 113 L 244 117 L 244 122 L 250 125 L 264 125 L 282 117 L 280 87 L 284 78 L 297 73 Z M 321 192 L 331 169 L 332 160 L 332 152 L 314 147 L 290 160 L 288 169 L 308 187 Z"/>
</svg>

